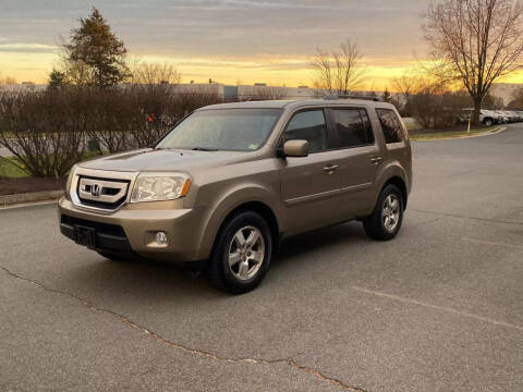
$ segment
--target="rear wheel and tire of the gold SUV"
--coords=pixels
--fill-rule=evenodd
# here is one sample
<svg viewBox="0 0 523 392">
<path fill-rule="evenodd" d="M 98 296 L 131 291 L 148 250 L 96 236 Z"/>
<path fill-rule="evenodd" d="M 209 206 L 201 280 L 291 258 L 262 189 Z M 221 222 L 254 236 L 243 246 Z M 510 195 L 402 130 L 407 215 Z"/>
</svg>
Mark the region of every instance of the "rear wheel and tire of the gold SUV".
<svg viewBox="0 0 523 392">
<path fill-rule="evenodd" d="M 403 222 L 403 195 L 398 186 L 393 184 L 385 186 L 379 194 L 373 215 L 363 219 L 365 233 L 374 240 L 392 240 L 400 231 Z M 387 213 L 387 211 L 390 211 L 390 213 Z M 392 219 L 392 217 L 396 219 Z"/>
</svg>

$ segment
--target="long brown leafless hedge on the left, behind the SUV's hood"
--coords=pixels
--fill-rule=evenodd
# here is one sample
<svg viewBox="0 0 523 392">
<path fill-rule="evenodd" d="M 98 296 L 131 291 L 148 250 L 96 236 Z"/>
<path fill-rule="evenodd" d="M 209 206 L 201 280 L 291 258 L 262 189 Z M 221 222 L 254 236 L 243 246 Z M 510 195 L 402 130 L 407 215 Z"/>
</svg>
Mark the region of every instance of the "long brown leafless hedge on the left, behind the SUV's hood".
<svg viewBox="0 0 523 392">
<path fill-rule="evenodd" d="M 191 111 L 221 98 L 215 86 L 57 87 L 0 93 L 0 145 L 34 176 L 61 177 L 85 157 L 149 147 Z"/>
</svg>

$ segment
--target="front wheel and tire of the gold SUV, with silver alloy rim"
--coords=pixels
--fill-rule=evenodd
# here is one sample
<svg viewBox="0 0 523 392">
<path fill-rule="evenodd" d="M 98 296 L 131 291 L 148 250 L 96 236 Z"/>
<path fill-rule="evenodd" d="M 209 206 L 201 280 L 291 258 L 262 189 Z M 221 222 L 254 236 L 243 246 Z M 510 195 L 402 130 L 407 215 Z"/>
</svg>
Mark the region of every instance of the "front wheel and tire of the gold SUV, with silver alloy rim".
<svg viewBox="0 0 523 392">
<path fill-rule="evenodd" d="M 254 211 L 242 211 L 222 224 L 207 262 L 207 275 L 221 291 L 246 293 L 262 282 L 271 256 L 272 235 L 267 221 Z"/>
</svg>

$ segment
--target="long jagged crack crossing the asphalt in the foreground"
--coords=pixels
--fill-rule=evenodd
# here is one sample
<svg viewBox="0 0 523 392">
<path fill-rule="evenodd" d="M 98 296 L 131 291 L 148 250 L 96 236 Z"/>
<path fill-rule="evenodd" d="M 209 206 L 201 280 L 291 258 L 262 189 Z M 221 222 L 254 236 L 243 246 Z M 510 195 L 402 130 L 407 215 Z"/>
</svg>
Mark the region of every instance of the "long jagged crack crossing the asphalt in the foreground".
<svg viewBox="0 0 523 392">
<path fill-rule="evenodd" d="M 44 291 L 54 293 L 54 294 L 59 294 L 59 295 L 66 296 L 66 297 L 70 297 L 72 299 L 75 299 L 75 301 L 80 302 L 82 305 L 84 305 L 85 307 L 87 307 L 88 309 L 90 309 L 93 311 L 110 315 L 110 316 L 114 317 L 115 319 L 118 319 L 119 321 L 123 322 L 124 324 L 142 331 L 143 333 L 145 333 L 145 334 L 149 335 L 150 338 L 155 339 L 158 343 L 160 343 L 165 346 L 168 346 L 170 348 L 174 348 L 174 350 L 179 350 L 179 351 L 182 351 L 184 353 L 187 353 L 187 354 L 209 358 L 211 360 L 219 360 L 219 362 L 226 362 L 226 363 L 236 363 L 236 364 L 238 363 L 243 363 L 243 364 L 255 364 L 255 365 L 265 365 L 265 366 L 269 366 L 269 365 L 273 365 L 273 364 L 278 364 L 278 363 L 283 363 L 283 364 L 287 364 L 287 365 L 291 366 L 292 368 L 294 368 L 296 370 L 300 370 L 300 371 L 306 372 L 308 375 L 312 375 L 312 376 L 316 377 L 317 379 L 319 379 L 324 382 L 328 382 L 328 383 L 331 383 L 333 385 L 340 387 L 341 389 L 344 389 L 345 391 L 367 392 L 367 391 L 365 391 L 361 388 L 348 385 L 337 378 L 329 377 L 329 376 L 325 375 L 324 372 L 321 372 L 318 369 L 302 365 L 302 364 L 297 363 L 296 360 L 294 360 L 293 357 L 280 358 L 280 359 L 234 358 L 234 357 L 224 357 L 224 356 L 214 354 L 211 352 L 207 352 L 207 351 L 192 348 L 192 347 L 181 345 L 179 343 L 175 343 L 175 342 L 172 342 L 168 339 L 162 338 L 161 335 L 159 335 L 158 333 L 148 329 L 147 327 L 141 326 L 141 324 L 132 321 L 131 319 L 129 319 L 127 317 L 125 317 L 123 315 L 120 315 L 120 314 L 118 314 L 113 310 L 97 306 L 97 305 L 93 304 L 92 302 L 89 302 L 89 301 L 87 301 L 87 299 L 85 299 L 81 296 L 77 296 L 75 294 L 71 294 L 71 293 L 69 293 L 66 291 L 63 291 L 63 290 L 49 287 L 49 286 L 45 285 L 44 283 L 40 283 L 36 280 L 22 277 L 17 273 L 11 271 L 10 269 L 3 267 L 3 266 L 0 266 L 0 269 L 5 274 L 8 274 L 8 275 L 10 275 L 14 279 L 21 280 L 23 282 L 33 284 L 33 285 L 35 285 L 35 286 L 37 286 L 37 287 L 39 287 Z"/>
</svg>

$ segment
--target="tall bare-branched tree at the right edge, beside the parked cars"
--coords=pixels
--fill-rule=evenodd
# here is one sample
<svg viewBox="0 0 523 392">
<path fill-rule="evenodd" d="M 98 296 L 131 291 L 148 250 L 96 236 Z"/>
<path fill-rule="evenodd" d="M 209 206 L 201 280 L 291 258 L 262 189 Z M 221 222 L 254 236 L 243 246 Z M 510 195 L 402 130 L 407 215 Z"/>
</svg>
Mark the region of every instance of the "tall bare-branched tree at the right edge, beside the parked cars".
<svg viewBox="0 0 523 392">
<path fill-rule="evenodd" d="M 522 66 L 523 2 L 520 0 L 431 1 L 425 15 L 434 75 L 463 84 L 479 122 L 492 83 Z"/>
</svg>

